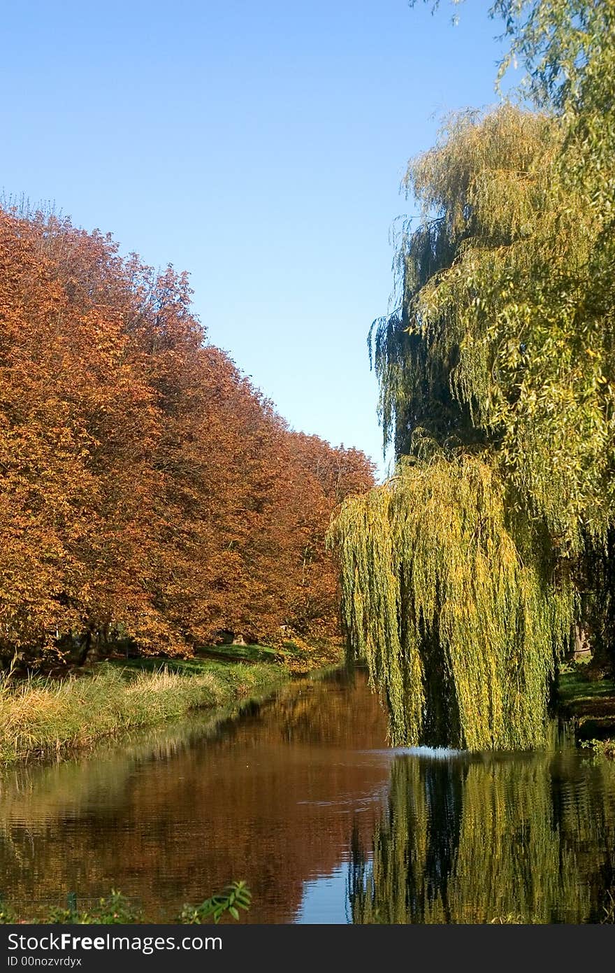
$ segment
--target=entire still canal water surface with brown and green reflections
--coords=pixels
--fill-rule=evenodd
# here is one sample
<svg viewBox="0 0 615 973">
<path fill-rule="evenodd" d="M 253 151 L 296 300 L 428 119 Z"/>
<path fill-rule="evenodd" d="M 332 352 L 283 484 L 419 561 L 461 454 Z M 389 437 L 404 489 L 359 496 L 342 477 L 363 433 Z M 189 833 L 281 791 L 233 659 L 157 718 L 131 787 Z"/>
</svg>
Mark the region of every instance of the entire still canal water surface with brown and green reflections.
<svg viewBox="0 0 615 973">
<path fill-rule="evenodd" d="M 172 921 L 232 880 L 250 922 L 600 921 L 615 764 L 393 750 L 364 674 L 303 680 L 87 758 L 0 777 L 0 890 L 119 888 Z"/>
</svg>

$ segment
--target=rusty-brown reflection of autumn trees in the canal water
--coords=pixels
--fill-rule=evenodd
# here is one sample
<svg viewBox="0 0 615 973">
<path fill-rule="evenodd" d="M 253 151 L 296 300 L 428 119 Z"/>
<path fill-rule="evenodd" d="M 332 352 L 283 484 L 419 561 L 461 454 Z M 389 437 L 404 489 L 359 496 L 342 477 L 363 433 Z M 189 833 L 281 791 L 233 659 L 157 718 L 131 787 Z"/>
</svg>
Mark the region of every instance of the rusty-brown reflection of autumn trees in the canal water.
<svg viewBox="0 0 615 973">
<path fill-rule="evenodd" d="M 254 893 L 243 920 L 290 921 L 304 883 L 348 854 L 358 807 L 369 841 L 389 764 L 386 716 L 359 674 L 350 691 L 338 678 L 302 680 L 205 737 L 196 718 L 176 734 L 159 728 L 149 749 L 5 775 L 7 898 L 21 906 L 113 886 L 168 919 L 241 878 Z"/>
</svg>

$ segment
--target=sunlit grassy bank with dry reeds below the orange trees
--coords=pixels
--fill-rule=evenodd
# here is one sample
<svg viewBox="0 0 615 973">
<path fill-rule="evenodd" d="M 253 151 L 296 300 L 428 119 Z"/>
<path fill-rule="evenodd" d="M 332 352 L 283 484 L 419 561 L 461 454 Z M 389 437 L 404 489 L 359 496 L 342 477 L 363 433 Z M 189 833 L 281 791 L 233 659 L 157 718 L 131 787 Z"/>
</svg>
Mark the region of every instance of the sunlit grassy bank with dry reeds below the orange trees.
<svg viewBox="0 0 615 973">
<path fill-rule="evenodd" d="M 63 680 L 0 683 L 0 764 L 46 757 L 126 730 L 221 706 L 290 678 L 270 663 L 148 660 L 146 667 L 103 663 Z"/>
</svg>

